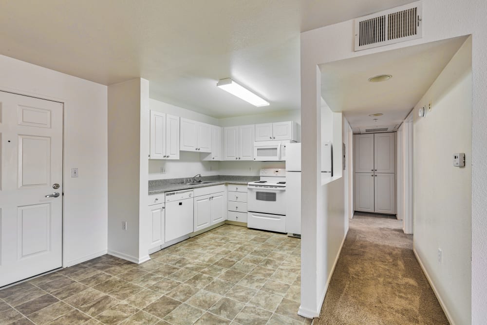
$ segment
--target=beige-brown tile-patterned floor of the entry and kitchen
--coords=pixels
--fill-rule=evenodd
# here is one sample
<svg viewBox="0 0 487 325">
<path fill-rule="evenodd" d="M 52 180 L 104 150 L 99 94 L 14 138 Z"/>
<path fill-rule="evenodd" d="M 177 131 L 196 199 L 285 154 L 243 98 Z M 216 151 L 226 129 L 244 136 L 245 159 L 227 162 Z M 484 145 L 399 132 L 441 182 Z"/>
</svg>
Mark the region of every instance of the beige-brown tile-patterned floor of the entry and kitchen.
<svg viewBox="0 0 487 325">
<path fill-rule="evenodd" d="M 0 290 L 0 324 L 310 324 L 300 239 L 224 225 L 136 265 L 109 255 Z"/>
</svg>

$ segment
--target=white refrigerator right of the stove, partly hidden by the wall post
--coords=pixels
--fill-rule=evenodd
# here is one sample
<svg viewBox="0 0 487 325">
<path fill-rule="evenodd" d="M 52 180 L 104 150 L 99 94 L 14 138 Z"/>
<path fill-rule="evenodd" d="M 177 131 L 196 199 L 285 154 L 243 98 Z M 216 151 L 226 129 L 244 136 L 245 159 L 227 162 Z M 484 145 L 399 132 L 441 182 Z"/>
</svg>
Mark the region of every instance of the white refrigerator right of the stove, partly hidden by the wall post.
<svg viewBox="0 0 487 325">
<path fill-rule="evenodd" d="M 321 172 L 333 175 L 332 144 L 321 150 Z M 286 232 L 301 236 L 301 143 L 286 144 Z"/>
</svg>

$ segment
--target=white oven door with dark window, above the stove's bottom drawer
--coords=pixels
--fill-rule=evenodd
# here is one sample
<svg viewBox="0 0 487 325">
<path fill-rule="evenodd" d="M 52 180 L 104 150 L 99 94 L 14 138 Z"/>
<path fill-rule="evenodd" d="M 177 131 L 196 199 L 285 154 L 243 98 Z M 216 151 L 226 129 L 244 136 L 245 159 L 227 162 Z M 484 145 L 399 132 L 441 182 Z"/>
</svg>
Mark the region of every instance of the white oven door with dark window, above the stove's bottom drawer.
<svg viewBox="0 0 487 325">
<path fill-rule="evenodd" d="M 247 186 L 247 210 L 286 215 L 286 188 Z"/>
</svg>

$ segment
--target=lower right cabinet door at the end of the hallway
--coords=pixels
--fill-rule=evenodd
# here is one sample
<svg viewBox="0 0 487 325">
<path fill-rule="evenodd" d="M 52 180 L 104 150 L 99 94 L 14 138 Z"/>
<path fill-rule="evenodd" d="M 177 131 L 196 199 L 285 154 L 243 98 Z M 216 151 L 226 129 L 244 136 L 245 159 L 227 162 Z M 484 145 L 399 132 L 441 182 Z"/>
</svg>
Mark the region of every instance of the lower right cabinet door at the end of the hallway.
<svg viewBox="0 0 487 325">
<path fill-rule="evenodd" d="M 375 212 L 394 214 L 395 174 L 375 174 L 374 177 Z"/>
</svg>

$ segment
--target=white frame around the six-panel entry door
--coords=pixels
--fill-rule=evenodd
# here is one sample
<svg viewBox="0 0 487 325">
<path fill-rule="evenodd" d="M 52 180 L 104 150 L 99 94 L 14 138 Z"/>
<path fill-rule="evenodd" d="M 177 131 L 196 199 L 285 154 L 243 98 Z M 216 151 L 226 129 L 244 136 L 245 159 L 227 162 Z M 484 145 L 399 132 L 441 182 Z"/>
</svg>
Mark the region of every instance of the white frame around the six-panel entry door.
<svg viewBox="0 0 487 325">
<path fill-rule="evenodd" d="M 63 98 L 53 97 L 53 96 L 39 95 L 39 94 L 36 94 L 33 92 L 9 88 L 6 86 L 0 86 L 0 91 L 19 95 L 19 96 L 27 96 L 27 97 L 33 97 L 33 98 L 38 98 L 38 99 L 54 101 L 54 102 L 62 104 L 63 114 L 62 114 L 62 164 L 61 164 L 62 165 L 62 178 L 61 178 L 62 184 L 61 184 L 61 188 L 63 189 L 63 191 L 61 193 L 61 222 L 62 222 L 62 229 L 61 229 L 61 232 L 62 232 L 62 241 L 61 241 L 62 248 L 61 248 L 61 251 L 62 251 L 62 268 L 66 268 L 67 267 L 66 266 L 66 260 L 65 260 L 66 254 L 64 253 L 64 248 L 66 247 L 64 245 L 64 239 L 66 238 L 66 236 L 64 234 L 64 193 L 66 192 L 66 189 L 64 187 L 65 186 L 65 183 L 64 183 L 64 180 L 65 180 L 65 174 L 64 174 L 64 152 L 65 152 L 64 146 L 65 146 L 65 144 L 64 144 L 64 139 L 66 137 L 66 129 L 64 127 L 64 124 L 65 124 L 65 118 L 66 118 L 67 100 L 65 100 Z"/>
</svg>

